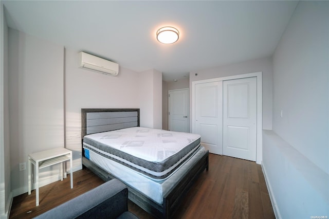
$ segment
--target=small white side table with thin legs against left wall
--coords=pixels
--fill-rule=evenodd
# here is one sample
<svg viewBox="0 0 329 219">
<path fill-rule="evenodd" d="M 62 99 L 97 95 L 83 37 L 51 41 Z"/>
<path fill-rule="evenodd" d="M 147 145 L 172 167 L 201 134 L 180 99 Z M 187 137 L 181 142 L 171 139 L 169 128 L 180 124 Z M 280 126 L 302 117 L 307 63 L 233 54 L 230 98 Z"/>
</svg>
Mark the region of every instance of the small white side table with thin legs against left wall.
<svg viewBox="0 0 329 219">
<path fill-rule="evenodd" d="M 70 180 L 71 189 L 73 188 L 72 174 L 72 151 L 65 148 L 55 148 L 46 151 L 41 151 L 28 155 L 28 183 L 29 195 L 31 194 L 31 163 L 35 166 L 35 204 L 39 206 L 39 169 L 61 163 L 61 180 L 63 180 L 63 162 L 70 160 Z"/>
</svg>

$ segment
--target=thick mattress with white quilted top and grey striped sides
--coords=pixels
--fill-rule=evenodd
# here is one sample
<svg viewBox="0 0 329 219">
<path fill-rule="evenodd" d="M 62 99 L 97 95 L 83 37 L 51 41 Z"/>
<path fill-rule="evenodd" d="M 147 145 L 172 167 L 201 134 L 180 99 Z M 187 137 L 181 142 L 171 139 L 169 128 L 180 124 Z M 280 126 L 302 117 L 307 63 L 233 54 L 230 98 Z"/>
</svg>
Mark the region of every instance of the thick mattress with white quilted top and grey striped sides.
<svg viewBox="0 0 329 219">
<path fill-rule="evenodd" d="M 169 177 L 200 147 L 200 135 L 131 127 L 84 136 L 83 147 L 153 179 Z M 88 158 L 88 152 L 85 153 Z"/>
</svg>

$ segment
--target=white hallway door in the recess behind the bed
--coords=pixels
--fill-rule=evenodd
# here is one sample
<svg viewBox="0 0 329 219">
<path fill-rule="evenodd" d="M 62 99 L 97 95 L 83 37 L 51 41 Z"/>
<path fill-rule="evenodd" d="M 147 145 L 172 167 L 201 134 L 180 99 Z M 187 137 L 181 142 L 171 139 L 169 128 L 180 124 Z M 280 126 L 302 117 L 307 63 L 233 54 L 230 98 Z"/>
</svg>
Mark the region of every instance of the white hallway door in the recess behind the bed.
<svg viewBox="0 0 329 219">
<path fill-rule="evenodd" d="M 174 132 L 189 132 L 189 89 L 169 90 L 168 125 Z"/>
</svg>

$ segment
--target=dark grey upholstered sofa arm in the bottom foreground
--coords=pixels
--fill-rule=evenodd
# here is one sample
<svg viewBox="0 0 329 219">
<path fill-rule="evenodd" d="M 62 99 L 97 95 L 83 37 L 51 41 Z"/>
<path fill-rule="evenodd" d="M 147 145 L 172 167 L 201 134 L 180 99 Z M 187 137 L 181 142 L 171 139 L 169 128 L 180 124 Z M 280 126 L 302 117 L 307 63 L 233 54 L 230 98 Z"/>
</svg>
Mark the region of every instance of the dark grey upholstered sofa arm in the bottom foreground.
<svg viewBox="0 0 329 219">
<path fill-rule="evenodd" d="M 128 211 L 128 189 L 112 179 L 35 218 L 138 218 Z"/>
</svg>

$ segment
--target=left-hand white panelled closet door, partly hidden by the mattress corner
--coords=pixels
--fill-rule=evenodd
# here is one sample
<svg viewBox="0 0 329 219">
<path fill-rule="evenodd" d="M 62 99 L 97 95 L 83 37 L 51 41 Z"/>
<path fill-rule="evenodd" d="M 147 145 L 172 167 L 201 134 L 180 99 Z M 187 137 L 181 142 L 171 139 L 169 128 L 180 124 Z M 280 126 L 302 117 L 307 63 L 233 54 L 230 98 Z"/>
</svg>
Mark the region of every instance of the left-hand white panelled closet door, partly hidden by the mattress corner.
<svg viewBox="0 0 329 219">
<path fill-rule="evenodd" d="M 213 154 L 223 154 L 223 82 L 195 85 L 195 133 Z"/>
</svg>

